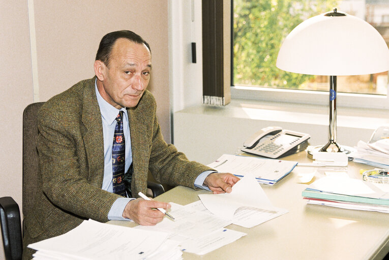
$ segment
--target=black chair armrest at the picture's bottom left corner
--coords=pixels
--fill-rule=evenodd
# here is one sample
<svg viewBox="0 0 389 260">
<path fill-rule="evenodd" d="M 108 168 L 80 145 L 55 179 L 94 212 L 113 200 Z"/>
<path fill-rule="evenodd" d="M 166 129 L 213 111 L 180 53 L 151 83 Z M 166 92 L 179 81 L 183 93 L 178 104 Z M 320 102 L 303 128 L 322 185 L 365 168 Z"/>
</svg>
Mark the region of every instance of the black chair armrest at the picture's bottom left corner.
<svg viewBox="0 0 389 260">
<path fill-rule="evenodd" d="M 23 248 L 20 211 L 11 197 L 0 198 L 0 223 L 6 259 L 21 259 Z"/>
</svg>

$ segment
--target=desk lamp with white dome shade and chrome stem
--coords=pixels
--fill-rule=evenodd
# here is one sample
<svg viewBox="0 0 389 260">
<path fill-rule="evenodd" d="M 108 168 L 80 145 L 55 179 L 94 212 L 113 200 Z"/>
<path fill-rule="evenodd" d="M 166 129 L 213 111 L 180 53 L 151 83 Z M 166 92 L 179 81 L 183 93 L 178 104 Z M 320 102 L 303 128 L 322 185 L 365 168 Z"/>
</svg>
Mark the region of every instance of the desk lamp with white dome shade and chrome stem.
<svg viewBox="0 0 389 260">
<path fill-rule="evenodd" d="M 336 78 L 389 70 L 389 50 L 373 26 L 335 8 L 297 25 L 285 38 L 276 66 L 288 72 L 330 76 L 330 140 L 308 154 L 349 153 L 336 141 Z"/>
</svg>

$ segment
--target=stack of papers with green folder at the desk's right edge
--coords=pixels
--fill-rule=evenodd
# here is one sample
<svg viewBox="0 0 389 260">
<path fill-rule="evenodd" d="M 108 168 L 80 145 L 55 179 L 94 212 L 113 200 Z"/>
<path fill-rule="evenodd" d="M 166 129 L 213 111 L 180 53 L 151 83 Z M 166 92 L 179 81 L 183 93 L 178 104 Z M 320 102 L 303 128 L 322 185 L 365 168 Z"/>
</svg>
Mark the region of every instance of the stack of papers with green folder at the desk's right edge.
<svg viewBox="0 0 389 260">
<path fill-rule="evenodd" d="M 389 184 L 327 176 L 302 193 L 308 204 L 389 213 Z"/>
</svg>

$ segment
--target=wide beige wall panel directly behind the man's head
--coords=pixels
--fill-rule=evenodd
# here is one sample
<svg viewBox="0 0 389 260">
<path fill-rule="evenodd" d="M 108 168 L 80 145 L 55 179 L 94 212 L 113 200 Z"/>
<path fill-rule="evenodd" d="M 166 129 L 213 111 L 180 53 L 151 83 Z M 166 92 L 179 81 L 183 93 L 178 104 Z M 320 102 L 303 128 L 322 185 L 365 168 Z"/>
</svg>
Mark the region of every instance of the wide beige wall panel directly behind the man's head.
<svg viewBox="0 0 389 260">
<path fill-rule="evenodd" d="M 148 89 L 156 96 L 162 133 L 170 142 L 167 0 L 36 0 L 34 6 L 40 101 L 93 77 L 101 38 L 110 31 L 129 29 L 152 49 Z"/>
</svg>

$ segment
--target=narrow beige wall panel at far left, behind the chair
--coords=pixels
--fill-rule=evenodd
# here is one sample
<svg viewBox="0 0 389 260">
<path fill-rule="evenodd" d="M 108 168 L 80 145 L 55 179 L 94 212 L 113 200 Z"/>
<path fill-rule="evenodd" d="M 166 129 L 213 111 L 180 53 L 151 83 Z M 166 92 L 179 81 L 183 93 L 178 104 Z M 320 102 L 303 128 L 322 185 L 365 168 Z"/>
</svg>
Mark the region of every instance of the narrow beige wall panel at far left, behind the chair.
<svg viewBox="0 0 389 260">
<path fill-rule="evenodd" d="M 0 197 L 11 196 L 21 206 L 22 114 L 33 102 L 27 1 L 0 1 L 0 31 Z"/>
</svg>

